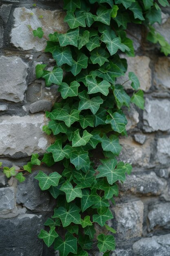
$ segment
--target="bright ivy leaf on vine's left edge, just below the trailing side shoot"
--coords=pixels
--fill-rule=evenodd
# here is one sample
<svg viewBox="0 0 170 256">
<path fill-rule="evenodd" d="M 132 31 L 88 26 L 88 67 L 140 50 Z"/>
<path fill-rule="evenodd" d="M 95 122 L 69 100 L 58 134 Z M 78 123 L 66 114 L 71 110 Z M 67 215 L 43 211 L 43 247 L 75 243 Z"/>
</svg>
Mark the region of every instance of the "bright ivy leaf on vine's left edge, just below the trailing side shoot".
<svg viewBox="0 0 170 256">
<path fill-rule="evenodd" d="M 61 177 L 62 176 L 57 172 L 50 173 L 48 176 L 40 171 L 34 178 L 39 180 L 39 186 L 41 190 L 46 190 L 49 189 L 50 186 L 57 186 Z"/>
</svg>

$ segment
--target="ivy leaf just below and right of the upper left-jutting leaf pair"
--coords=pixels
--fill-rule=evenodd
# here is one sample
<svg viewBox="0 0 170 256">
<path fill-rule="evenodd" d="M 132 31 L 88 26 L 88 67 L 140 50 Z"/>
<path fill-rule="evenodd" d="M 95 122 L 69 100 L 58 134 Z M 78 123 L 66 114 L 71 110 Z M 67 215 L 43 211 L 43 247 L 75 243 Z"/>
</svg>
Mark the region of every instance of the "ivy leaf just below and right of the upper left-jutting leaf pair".
<svg viewBox="0 0 170 256">
<path fill-rule="evenodd" d="M 58 92 L 61 92 L 62 98 L 74 97 L 78 95 L 78 88 L 80 84 L 77 81 L 71 82 L 70 86 L 67 83 L 61 83 Z"/>
</svg>

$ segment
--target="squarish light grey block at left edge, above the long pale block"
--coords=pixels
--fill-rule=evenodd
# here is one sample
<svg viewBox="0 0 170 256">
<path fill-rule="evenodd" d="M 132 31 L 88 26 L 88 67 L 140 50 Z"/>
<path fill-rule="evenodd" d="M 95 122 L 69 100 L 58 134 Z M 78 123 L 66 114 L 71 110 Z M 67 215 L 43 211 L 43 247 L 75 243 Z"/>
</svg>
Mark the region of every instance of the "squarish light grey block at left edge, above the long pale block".
<svg viewBox="0 0 170 256">
<path fill-rule="evenodd" d="M 0 99 L 14 102 L 24 99 L 27 68 L 20 57 L 0 57 Z"/>
</svg>

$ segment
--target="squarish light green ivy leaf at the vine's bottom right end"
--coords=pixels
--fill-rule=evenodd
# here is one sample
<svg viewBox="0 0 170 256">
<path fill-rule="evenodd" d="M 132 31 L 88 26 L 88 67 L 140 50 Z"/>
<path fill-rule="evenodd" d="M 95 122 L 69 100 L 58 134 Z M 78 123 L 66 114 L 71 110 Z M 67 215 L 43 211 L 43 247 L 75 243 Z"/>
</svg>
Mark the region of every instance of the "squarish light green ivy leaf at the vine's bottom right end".
<svg viewBox="0 0 170 256">
<path fill-rule="evenodd" d="M 108 235 L 105 236 L 104 234 L 100 234 L 97 236 L 97 247 L 99 248 L 100 252 L 106 252 L 108 250 L 115 250 L 115 238 L 114 236 Z"/>
</svg>

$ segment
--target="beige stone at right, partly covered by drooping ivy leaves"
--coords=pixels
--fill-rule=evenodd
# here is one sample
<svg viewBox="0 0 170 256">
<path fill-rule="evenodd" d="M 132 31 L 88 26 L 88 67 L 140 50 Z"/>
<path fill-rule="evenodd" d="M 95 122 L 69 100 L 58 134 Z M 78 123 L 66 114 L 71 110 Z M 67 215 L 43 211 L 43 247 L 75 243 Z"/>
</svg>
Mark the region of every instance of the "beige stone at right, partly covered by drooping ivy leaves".
<svg viewBox="0 0 170 256">
<path fill-rule="evenodd" d="M 151 70 L 149 67 L 150 58 L 148 58 L 147 56 L 135 56 L 135 57 L 123 56 L 123 58 L 127 59 L 128 70 L 125 76 L 121 76 L 120 78 L 117 79 L 117 83 L 120 83 L 120 84 L 124 83 L 129 79 L 128 72 L 134 72 L 140 81 L 141 90 L 147 92 L 151 87 Z M 130 84 L 131 82 L 128 81 L 127 83 L 124 84 L 124 87 L 132 89 Z"/>
</svg>

